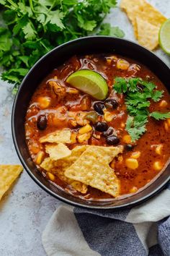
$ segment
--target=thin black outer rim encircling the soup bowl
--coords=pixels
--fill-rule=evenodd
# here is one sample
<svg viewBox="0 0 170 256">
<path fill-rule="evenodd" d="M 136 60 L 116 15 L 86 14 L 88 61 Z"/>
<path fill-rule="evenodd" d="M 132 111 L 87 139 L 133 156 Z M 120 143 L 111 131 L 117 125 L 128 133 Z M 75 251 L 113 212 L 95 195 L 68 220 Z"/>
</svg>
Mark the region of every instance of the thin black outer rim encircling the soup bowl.
<svg viewBox="0 0 170 256">
<path fill-rule="evenodd" d="M 60 48 L 63 48 L 65 46 L 68 46 L 72 43 L 75 43 L 75 42 L 80 42 L 82 40 L 86 40 L 86 39 L 92 39 L 92 38 L 110 38 L 110 39 L 113 39 L 115 38 L 116 40 L 120 40 L 120 41 L 125 41 L 125 42 L 128 42 L 128 43 L 131 43 L 133 44 L 133 46 L 136 46 L 140 49 L 143 49 L 145 51 L 148 51 L 148 53 L 150 54 L 150 56 L 154 56 L 155 58 L 159 59 L 162 64 L 165 65 L 165 67 L 168 67 L 168 65 L 166 64 L 166 62 L 160 57 L 160 56 L 157 56 L 155 53 L 153 53 L 152 51 L 149 51 L 147 48 L 143 47 L 143 46 L 140 46 L 138 43 L 135 43 L 134 41 L 132 40 L 128 40 L 128 39 L 124 39 L 124 38 L 116 38 L 116 37 L 113 37 L 113 36 L 107 36 L 107 35 L 91 35 L 91 36 L 86 36 L 86 37 L 81 37 L 81 38 L 76 38 L 74 40 L 70 40 L 66 43 L 63 43 L 61 44 L 60 46 L 56 46 L 55 48 L 53 48 L 51 51 L 49 51 L 47 54 L 45 54 L 44 56 L 42 56 L 37 62 L 35 62 L 35 64 L 32 66 L 32 68 L 29 70 L 29 72 L 26 74 L 26 76 L 24 77 L 24 79 L 22 80 L 22 83 L 21 85 L 19 86 L 19 90 L 17 91 L 17 95 L 15 95 L 15 98 L 14 98 L 14 102 L 13 102 L 13 105 L 12 105 L 12 117 L 11 117 L 11 125 L 12 125 L 12 139 L 13 139 L 13 142 L 14 142 L 14 148 L 15 150 L 17 151 L 17 155 L 19 157 L 19 160 L 21 161 L 22 165 L 24 166 L 24 169 L 27 171 L 27 174 L 30 175 L 30 177 L 35 181 L 35 183 L 37 185 L 39 185 L 42 189 L 45 190 L 45 192 L 48 192 L 48 194 L 52 195 L 53 197 L 55 197 L 56 199 L 58 200 L 61 200 L 62 202 L 66 202 L 68 203 L 68 205 L 73 205 L 74 207 L 80 207 L 80 208 L 88 208 L 88 209 L 96 209 L 96 210 L 117 210 L 117 209 L 125 209 L 125 208 L 130 208 L 131 206 L 135 206 L 135 205 L 139 205 L 141 202 L 145 202 L 146 200 L 150 199 L 151 197 L 153 197 L 154 195 L 157 195 L 158 192 L 160 192 L 162 189 L 164 189 L 164 187 L 166 186 L 166 184 L 169 182 L 170 180 L 170 176 L 168 176 L 164 182 L 162 182 L 158 187 L 156 187 L 155 189 L 153 189 L 153 191 L 149 192 L 147 195 L 143 196 L 143 197 L 140 197 L 138 198 L 137 200 L 134 200 L 132 202 L 127 202 L 127 203 L 124 203 L 122 205 L 106 205 L 106 206 L 102 206 L 102 205 L 83 205 L 79 202 L 73 202 L 71 200 L 68 200 L 67 198 L 64 198 L 60 195 L 58 195 L 57 193 L 53 192 L 51 189 L 49 189 L 48 187 L 46 187 L 44 184 L 42 184 L 42 182 L 39 181 L 39 179 L 37 179 L 37 177 L 32 173 L 32 171 L 30 170 L 30 168 L 27 166 L 27 163 L 25 163 L 24 161 L 24 158 L 22 157 L 22 153 L 20 152 L 19 150 L 19 145 L 17 144 L 17 139 L 16 139 L 16 136 L 15 136 L 15 126 L 14 126 L 14 114 L 15 114 L 15 110 L 16 110 L 16 106 L 17 106 L 17 101 L 18 101 L 18 98 L 19 98 L 19 93 L 21 92 L 22 90 L 22 86 L 24 85 L 24 82 L 25 80 L 27 80 L 27 77 L 30 75 L 30 73 L 32 72 L 32 70 L 40 64 L 40 62 L 42 60 L 44 60 L 47 56 L 49 56 L 50 54 L 53 54 L 53 52 L 55 51 L 58 51 L 60 50 Z M 170 69 L 169 69 L 170 70 Z M 166 166 L 167 168 L 167 166 Z M 154 181 L 155 182 L 155 181 Z"/>
</svg>

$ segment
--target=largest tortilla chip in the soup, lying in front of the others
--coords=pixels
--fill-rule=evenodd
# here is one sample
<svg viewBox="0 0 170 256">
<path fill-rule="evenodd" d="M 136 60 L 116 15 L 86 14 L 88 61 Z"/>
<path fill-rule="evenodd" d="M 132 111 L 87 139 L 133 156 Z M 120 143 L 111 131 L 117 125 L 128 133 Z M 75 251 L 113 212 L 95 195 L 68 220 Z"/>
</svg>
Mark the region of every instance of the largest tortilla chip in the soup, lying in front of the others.
<svg viewBox="0 0 170 256">
<path fill-rule="evenodd" d="M 78 160 L 66 169 L 65 175 L 69 179 L 75 179 L 117 197 L 120 194 L 120 182 L 109 163 L 119 153 L 122 153 L 121 147 L 89 146 Z"/>
</svg>

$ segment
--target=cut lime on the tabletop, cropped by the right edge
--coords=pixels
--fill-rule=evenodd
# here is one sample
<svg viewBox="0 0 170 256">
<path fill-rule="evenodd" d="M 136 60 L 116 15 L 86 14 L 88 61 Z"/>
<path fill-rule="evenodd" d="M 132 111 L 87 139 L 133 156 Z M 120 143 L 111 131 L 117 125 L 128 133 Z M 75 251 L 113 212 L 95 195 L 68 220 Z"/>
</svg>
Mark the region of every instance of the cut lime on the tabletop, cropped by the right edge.
<svg viewBox="0 0 170 256">
<path fill-rule="evenodd" d="M 170 19 L 166 20 L 166 22 L 161 25 L 158 40 L 161 48 L 166 54 L 170 54 Z"/>
</svg>

